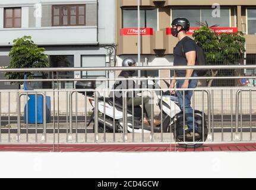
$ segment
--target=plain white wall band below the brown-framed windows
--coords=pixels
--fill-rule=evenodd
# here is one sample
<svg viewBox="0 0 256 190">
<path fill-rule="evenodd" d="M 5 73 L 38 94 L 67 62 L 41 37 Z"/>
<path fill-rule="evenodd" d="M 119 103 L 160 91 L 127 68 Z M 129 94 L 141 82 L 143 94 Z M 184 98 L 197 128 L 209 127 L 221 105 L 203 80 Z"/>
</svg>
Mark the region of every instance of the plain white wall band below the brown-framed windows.
<svg viewBox="0 0 256 190">
<path fill-rule="evenodd" d="M 37 45 L 97 44 L 96 27 L 49 27 L 43 29 L 2 29 L 0 46 L 12 44 L 17 37 L 31 36 Z"/>
</svg>

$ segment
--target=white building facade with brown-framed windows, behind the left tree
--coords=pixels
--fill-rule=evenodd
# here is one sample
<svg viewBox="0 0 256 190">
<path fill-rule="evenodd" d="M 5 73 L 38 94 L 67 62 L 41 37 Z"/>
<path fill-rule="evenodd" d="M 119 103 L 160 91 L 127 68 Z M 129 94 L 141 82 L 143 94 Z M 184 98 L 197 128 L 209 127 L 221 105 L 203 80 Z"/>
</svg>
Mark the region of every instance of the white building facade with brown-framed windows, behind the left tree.
<svg viewBox="0 0 256 190">
<path fill-rule="evenodd" d="M 50 67 L 113 66 L 115 0 L 1 0 L 1 68 L 10 64 L 8 53 L 12 41 L 23 36 L 31 36 L 37 45 L 46 49 Z M 106 72 L 60 72 L 58 78 L 112 75 Z M 3 74 L 0 77 L 4 78 Z M 56 76 L 49 73 L 48 77 Z M 34 88 L 53 87 L 52 83 L 33 85 Z M 59 87 L 73 88 L 74 83 L 59 83 Z M 2 83 L 0 88 L 16 87 Z"/>
</svg>

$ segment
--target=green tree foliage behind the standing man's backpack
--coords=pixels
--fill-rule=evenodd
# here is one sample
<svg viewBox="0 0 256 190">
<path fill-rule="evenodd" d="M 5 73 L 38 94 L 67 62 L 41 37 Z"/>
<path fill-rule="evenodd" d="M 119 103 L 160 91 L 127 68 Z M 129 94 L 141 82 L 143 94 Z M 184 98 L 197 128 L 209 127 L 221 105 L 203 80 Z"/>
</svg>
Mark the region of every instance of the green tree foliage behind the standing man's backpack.
<svg viewBox="0 0 256 190">
<path fill-rule="evenodd" d="M 235 65 L 241 63 L 245 52 L 245 38 L 241 31 L 236 33 L 217 34 L 211 31 L 208 24 L 200 23 L 201 28 L 195 30 L 193 37 L 195 42 L 203 47 L 206 52 L 208 65 Z M 219 70 L 211 70 L 211 76 L 215 77 Z M 212 80 L 208 81 L 210 86 Z"/>
</svg>

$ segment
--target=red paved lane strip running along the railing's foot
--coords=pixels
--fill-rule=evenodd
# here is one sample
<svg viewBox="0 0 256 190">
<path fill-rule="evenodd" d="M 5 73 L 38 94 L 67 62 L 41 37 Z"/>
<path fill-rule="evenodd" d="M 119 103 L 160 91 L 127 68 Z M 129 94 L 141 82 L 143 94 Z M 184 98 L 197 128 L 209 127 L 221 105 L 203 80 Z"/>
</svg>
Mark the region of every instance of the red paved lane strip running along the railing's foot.
<svg viewBox="0 0 256 190">
<path fill-rule="evenodd" d="M 256 151 L 256 143 L 203 145 L 200 148 L 181 148 L 175 144 L 1 144 L 0 151 L 31 152 L 184 152 L 184 151 Z"/>
</svg>

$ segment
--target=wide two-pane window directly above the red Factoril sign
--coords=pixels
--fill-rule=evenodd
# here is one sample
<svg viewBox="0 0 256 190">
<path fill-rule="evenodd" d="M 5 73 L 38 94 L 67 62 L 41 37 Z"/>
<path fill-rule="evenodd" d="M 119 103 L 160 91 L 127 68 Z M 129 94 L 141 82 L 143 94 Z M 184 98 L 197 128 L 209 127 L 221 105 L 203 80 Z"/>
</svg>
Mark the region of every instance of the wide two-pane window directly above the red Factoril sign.
<svg viewBox="0 0 256 190">
<path fill-rule="evenodd" d="M 137 9 L 123 9 L 123 28 L 138 27 Z M 157 9 L 140 10 L 140 22 L 142 28 L 157 30 Z"/>
</svg>

